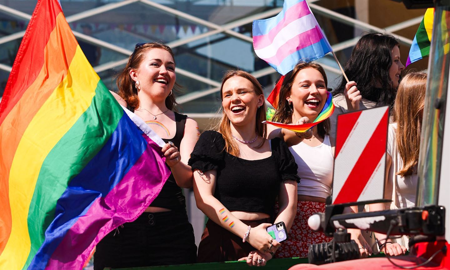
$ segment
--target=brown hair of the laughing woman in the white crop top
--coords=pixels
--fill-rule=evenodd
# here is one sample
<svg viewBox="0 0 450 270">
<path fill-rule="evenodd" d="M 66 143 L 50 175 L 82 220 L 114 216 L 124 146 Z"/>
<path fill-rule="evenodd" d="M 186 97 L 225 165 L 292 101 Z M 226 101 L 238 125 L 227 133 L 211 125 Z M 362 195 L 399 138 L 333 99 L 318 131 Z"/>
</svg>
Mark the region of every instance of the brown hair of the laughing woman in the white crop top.
<svg viewBox="0 0 450 270">
<path fill-rule="evenodd" d="M 292 123 L 292 114 L 293 114 L 293 105 L 289 105 L 288 100 L 286 97 L 288 94 L 291 94 L 292 85 L 294 84 L 295 77 L 297 76 L 298 72 L 301 71 L 304 68 L 314 68 L 322 76 L 324 77 L 325 81 L 325 87 L 328 85 L 327 80 L 327 74 L 325 74 L 324 68 L 318 64 L 313 62 L 299 62 L 294 67 L 294 69 L 286 74 L 284 77 L 283 84 L 281 85 L 280 94 L 279 94 L 279 100 L 278 100 L 278 107 L 274 114 L 274 117 L 272 118 L 272 121 L 274 122 L 281 122 L 284 124 L 291 124 Z M 327 135 L 330 131 L 330 120 L 327 118 L 325 121 L 320 122 L 317 124 L 317 132 L 318 135 L 321 138 L 324 138 L 325 135 Z"/>
</svg>

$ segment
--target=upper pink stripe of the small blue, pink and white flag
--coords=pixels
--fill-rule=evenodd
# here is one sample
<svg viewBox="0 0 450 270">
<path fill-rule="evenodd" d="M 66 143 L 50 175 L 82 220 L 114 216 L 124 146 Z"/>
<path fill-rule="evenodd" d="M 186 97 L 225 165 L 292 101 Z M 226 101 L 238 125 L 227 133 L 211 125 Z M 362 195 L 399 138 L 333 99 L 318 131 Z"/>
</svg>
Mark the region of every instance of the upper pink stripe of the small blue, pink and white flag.
<svg viewBox="0 0 450 270">
<path fill-rule="evenodd" d="M 290 7 L 285 13 L 284 18 L 275 26 L 270 29 L 269 33 L 261 36 L 253 36 L 253 46 L 255 49 L 264 48 L 275 39 L 275 36 L 281 31 L 284 27 L 286 27 L 289 23 L 297 20 L 298 18 L 302 18 L 311 14 L 311 10 L 308 7 L 306 1 L 302 1 Z M 261 44 L 260 44 L 261 43 Z"/>
</svg>

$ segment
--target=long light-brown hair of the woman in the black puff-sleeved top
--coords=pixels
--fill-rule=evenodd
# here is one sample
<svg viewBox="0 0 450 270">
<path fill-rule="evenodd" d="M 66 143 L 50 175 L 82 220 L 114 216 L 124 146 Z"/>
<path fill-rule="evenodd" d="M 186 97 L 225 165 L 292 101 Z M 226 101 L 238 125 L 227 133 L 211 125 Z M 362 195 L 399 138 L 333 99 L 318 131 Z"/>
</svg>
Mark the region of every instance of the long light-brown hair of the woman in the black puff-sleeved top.
<svg viewBox="0 0 450 270">
<path fill-rule="evenodd" d="M 222 78 L 222 85 L 220 86 L 220 99 L 223 100 L 223 87 L 225 84 L 225 81 L 227 81 L 229 78 L 232 78 L 234 76 L 240 76 L 248 81 L 250 81 L 253 85 L 253 90 L 255 91 L 255 94 L 258 96 L 260 94 L 264 95 L 262 91 L 262 87 L 259 84 L 258 80 L 250 73 L 242 71 L 242 70 L 229 70 L 225 73 L 224 77 Z M 262 123 L 262 121 L 266 120 L 266 104 L 262 103 L 262 105 L 257 109 L 256 112 L 256 134 L 262 137 L 262 141 L 256 148 L 260 148 L 264 145 L 266 142 L 266 135 L 267 135 L 267 127 L 265 124 Z M 229 121 L 229 118 L 226 116 L 225 111 L 222 108 L 222 119 L 220 120 L 219 125 L 217 126 L 217 130 L 222 134 L 222 137 L 225 140 L 225 148 L 224 150 L 235 156 L 239 156 L 239 147 L 236 144 L 236 142 L 233 139 L 233 136 L 231 135 L 231 124 Z"/>
</svg>

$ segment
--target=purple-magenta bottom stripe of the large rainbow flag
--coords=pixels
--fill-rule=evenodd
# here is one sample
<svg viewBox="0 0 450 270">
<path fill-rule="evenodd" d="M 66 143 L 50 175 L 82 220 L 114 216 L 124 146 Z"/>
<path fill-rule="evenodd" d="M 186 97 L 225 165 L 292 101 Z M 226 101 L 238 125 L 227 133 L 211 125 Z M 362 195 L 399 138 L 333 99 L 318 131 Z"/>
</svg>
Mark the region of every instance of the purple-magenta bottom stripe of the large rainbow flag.
<svg viewBox="0 0 450 270">
<path fill-rule="evenodd" d="M 159 146 L 146 135 L 143 137 L 148 142 L 147 150 L 106 197 L 97 198 L 86 214 L 78 218 L 53 252 L 45 269 L 81 270 L 95 245 L 106 234 L 125 222 L 135 220 L 156 198 L 170 171 L 164 157 L 157 158 L 161 155 L 157 150 Z M 148 164 L 155 164 L 155 168 L 148 168 L 145 181 L 136 181 L 136 174 L 142 174 L 139 170 L 148 167 Z M 138 215 L 136 211 L 129 211 L 139 208 Z"/>
</svg>

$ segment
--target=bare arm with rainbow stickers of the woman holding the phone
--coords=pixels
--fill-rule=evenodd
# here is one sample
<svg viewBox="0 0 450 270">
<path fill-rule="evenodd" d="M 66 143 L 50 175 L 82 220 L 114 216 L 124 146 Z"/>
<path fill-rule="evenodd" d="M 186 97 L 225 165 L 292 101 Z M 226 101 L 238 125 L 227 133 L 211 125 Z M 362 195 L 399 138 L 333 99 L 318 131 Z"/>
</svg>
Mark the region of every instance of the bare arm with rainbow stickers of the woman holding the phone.
<svg viewBox="0 0 450 270">
<path fill-rule="evenodd" d="M 217 171 L 206 171 L 202 175 L 198 171 L 194 171 L 193 175 L 193 189 L 198 209 L 202 210 L 216 224 L 243 238 L 247 233 L 248 226 L 228 211 L 213 195 L 216 188 Z M 247 242 L 261 252 L 268 249 L 272 237 L 267 233 L 266 228 L 270 225 L 263 223 L 252 228 Z"/>
</svg>

